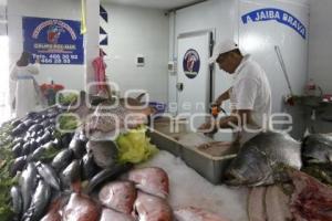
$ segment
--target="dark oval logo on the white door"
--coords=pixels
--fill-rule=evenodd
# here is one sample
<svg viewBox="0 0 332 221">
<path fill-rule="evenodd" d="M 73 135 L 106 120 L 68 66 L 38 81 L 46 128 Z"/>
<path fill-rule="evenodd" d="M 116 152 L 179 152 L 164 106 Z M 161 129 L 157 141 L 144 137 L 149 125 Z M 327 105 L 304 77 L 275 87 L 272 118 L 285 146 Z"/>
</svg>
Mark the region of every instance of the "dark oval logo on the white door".
<svg viewBox="0 0 332 221">
<path fill-rule="evenodd" d="M 184 57 L 184 72 L 188 78 L 195 78 L 200 69 L 200 59 L 196 50 L 189 49 Z"/>
</svg>

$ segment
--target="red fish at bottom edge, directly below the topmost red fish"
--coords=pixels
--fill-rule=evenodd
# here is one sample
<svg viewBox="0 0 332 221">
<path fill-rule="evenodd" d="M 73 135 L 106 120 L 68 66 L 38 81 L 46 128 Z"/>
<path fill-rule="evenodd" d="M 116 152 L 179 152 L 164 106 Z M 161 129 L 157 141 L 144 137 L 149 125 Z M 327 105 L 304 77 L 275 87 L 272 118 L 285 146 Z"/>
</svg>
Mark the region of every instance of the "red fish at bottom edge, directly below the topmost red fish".
<svg viewBox="0 0 332 221">
<path fill-rule="evenodd" d="M 137 221 L 173 221 L 173 210 L 166 200 L 139 192 L 134 204 Z"/>
</svg>

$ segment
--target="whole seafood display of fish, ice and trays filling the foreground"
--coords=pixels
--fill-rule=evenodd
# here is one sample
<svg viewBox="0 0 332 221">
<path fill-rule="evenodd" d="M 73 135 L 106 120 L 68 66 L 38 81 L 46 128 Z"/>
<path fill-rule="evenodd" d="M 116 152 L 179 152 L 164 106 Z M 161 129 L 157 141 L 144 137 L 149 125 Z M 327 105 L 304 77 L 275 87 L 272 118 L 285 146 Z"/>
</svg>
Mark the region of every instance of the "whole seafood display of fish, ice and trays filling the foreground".
<svg viewBox="0 0 332 221">
<path fill-rule="evenodd" d="M 85 102 L 53 106 L 2 125 L 1 221 L 331 220 L 331 136 L 301 144 L 263 133 L 238 151 L 204 135 L 147 131 L 141 117 L 124 129 L 133 110 L 103 109 L 108 102 L 93 112 Z M 107 113 L 120 117 L 114 139 Z"/>
</svg>

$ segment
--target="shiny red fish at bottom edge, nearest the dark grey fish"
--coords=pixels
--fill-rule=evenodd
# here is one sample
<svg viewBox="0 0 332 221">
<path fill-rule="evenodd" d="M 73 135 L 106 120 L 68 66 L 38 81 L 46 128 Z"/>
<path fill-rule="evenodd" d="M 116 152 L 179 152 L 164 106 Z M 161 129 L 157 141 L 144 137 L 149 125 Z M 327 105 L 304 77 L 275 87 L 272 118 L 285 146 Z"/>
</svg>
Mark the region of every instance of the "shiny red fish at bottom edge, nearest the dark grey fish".
<svg viewBox="0 0 332 221">
<path fill-rule="evenodd" d="M 73 193 L 64 208 L 63 221 L 98 221 L 100 212 L 89 197 Z"/>
</svg>

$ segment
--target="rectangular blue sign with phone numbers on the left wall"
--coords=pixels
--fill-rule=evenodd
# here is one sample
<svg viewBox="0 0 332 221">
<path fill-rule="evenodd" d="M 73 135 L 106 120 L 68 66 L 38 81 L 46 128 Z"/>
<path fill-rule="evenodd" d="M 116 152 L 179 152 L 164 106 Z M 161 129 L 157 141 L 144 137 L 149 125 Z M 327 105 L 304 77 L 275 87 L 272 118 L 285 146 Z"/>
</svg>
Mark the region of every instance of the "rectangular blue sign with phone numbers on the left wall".
<svg viewBox="0 0 332 221">
<path fill-rule="evenodd" d="M 42 64 L 83 64 L 81 22 L 23 17 L 24 51 Z"/>
</svg>

